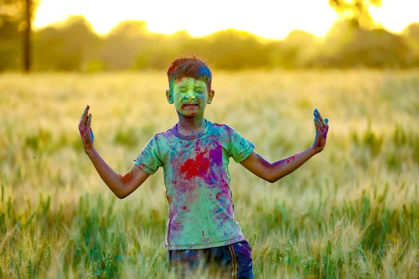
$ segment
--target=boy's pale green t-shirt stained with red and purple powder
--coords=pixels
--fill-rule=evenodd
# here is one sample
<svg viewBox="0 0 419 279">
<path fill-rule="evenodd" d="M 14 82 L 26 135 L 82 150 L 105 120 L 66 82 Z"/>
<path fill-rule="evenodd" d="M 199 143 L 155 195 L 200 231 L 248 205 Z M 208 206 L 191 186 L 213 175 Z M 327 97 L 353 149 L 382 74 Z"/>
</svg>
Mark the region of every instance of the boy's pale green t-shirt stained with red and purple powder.
<svg viewBox="0 0 419 279">
<path fill-rule="evenodd" d="M 148 174 L 163 167 L 168 199 L 167 250 L 226 246 L 243 239 L 234 218 L 228 163 L 240 163 L 255 148 L 233 128 L 206 121 L 182 135 L 175 125 L 146 144 L 135 165 Z"/>
</svg>

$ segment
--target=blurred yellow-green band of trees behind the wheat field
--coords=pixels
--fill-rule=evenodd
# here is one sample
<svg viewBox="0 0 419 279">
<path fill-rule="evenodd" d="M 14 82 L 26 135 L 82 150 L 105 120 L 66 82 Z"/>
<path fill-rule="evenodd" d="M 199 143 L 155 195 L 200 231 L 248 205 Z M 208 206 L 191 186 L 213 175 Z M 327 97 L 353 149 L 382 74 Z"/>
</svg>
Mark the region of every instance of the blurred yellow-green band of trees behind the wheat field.
<svg viewBox="0 0 419 279">
<path fill-rule="evenodd" d="M 23 68 L 27 1 L 31 2 L 0 0 L 0 71 Z M 330 0 L 329 4 L 340 20 L 324 38 L 295 30 L 284 40 L 267 40 L 235 29 L 205 37 L 186 31 L 163 35 L 149 32 L 143 21 L 121 22 L 98 36 L 84 17 L 73 16 L 32 31 L 31 70 L 163 70 L 180 53 L 189 51 L 222 70 L 419 66 L 419 22 L 402 33 L 390 33 L 369 15 L 368 7 L 380 6 L 380 0 Z M 32 13 L 37 6 L 38 2 L 32 3 Z"/>
</svg>

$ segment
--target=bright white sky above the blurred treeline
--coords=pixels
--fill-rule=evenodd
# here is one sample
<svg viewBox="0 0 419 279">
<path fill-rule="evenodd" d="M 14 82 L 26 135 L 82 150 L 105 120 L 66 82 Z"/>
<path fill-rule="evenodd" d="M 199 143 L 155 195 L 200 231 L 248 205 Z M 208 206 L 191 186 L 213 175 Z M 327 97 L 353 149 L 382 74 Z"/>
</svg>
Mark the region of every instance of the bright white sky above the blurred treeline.
<svg viewBox="0 0 419 279">
<path fill-rule="evenodd" d="M 397 33 L 419 22 L 418 10 L 419 0 L 383 0 L 381 8 L 370 12 L 376 22 Z M 155 33 L 186 30 L 191 36 L 205 36 L 234 28 L 272 39 L 294 29 L 324 36 L 337 20 L 328 0 L 41 0 L 34 26 L 62 22 L 70 15 L 83 15 L 100 34 L 124 20 L 145 20 Z"/>
</svg>

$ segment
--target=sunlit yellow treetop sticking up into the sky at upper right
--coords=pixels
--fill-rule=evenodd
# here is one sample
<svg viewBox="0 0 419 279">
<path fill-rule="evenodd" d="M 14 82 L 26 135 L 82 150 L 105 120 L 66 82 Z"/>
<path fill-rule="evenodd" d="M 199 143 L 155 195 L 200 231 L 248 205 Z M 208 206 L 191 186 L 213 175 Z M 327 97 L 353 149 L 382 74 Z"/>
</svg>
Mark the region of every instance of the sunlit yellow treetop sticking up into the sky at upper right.
<svg viewBox="0 0 419 279">
<path fill-rule="evenodd" d="M 329 5 L 341 15 L 351 20 L 355 27 L 374 27 L 369 6 L 381 6 L 382 0 L 329 0 Z"/>
</svg>

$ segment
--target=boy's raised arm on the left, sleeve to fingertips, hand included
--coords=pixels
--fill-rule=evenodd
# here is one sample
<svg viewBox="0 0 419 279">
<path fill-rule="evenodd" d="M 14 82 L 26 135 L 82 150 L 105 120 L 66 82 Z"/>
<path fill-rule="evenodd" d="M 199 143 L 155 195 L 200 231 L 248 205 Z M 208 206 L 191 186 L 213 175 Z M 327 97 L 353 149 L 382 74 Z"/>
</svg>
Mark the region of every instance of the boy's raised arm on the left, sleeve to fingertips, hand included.
<svg viewBox="0 0 419 279">
<path fill-rule="evenodd" d="M 84 109 L 78 127 L 80 136 L 82 137 L 84 152 L 89 156 L 91 163 L 93 163 L 99 176 L 101 176 L 103 182 L 112 190 L 112 193 L 119 197 L 119 199 L 124 199 L 124 197 L 130 195 L 135 189 L 140 187 L 141 184 L 146 181 L 149 174 L 140 169 L 140 167 L 133 165 L 128 173 L 122 176 L 115 172 L 115 170 L 103 160 L 93 145 L 93 133 L 90 128 L 91 114 L 87 115 L 88 112 L 89 105 Z"/>
</svg>

